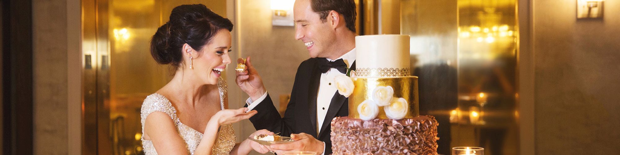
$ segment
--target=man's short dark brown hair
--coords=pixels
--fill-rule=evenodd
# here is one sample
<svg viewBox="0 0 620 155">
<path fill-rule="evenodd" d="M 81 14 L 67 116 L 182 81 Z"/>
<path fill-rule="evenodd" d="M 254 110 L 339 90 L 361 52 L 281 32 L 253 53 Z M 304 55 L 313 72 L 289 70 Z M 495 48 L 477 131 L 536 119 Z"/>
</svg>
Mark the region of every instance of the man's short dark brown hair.
<svg viewBox="0 0 620 155">
<path fill-rule="evenodd" d="M 319 14 L 323 22 L 327 21 L 329 11 L 336 11 L 345 17 L 347 28 L 355 32 L 355 1 L 353 0 L 311 0 L 312 11 Z"/>
</svg>

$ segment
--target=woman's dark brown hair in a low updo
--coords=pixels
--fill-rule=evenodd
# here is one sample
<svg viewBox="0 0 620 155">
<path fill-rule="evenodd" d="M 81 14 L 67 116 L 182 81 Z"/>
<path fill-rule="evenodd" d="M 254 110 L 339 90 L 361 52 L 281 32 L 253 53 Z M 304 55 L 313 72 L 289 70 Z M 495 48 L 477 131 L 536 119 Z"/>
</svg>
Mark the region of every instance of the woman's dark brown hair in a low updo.
<svg viewBox="0 0 620 155">
<path fill-rule="evenodd" d="M 221 29 L 232 31 L 232 22 L 203 4 L 177 6 L 170 20 L 157 29 L 151 38 L 151 55 L 159 64 L 178 68 L 183 60 L 185 43 L 201 51 Z"/>
</svg>

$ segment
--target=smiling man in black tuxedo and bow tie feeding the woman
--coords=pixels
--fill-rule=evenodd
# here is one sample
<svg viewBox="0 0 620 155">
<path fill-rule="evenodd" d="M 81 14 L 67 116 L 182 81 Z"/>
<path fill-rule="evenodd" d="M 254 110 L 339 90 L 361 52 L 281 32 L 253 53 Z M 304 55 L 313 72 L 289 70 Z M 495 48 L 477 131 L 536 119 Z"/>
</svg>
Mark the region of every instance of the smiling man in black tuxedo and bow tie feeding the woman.
<svg viewBox="0 0 620 155">
<path fill-rule="evenodd" d="M 355 69 L 355 2 L 353 0 L 297 0 L 294 3 L 295 39 L 301 40 L 312 58 L 299 64 L 291 100 L 284 118 L 254 66 L 237 72 L 236 82 L 250 98 L 246 104 L 258 113 L 250 118 L 257 130 L 291 135 L 293 143 L 272 144 L 278 154 L 312 151 L 331 154 L 330 122 L 348 115 L 348 99 L 337 92 L 334 76 Z M 241 62 L 242 60 L 238 60 Z"/>
</svg>

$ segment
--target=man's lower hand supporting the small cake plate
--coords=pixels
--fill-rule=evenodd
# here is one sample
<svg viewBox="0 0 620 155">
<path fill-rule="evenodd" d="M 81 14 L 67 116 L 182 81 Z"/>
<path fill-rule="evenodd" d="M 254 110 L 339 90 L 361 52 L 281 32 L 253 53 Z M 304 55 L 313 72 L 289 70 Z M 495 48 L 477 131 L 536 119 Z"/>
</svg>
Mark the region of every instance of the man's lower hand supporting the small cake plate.
<svg viewBox="0 0 620 155">
<path fill-rule="evenodd" d="M 293 143 L 272 144 L 269 146 L 277 154 L 283 154 L 288 151 L 312 151 L 316 154 L 323 154 L 325 143 L 306 133 L 291 134 Z"/>
</svg>

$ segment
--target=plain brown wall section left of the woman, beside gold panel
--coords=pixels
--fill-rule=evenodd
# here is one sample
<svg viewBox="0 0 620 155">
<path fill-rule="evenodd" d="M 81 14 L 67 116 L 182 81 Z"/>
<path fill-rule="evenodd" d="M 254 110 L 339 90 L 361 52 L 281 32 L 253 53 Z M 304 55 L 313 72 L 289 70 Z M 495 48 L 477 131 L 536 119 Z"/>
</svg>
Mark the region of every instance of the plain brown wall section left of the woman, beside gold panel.
<svg viewBox="0 0 620 155">
<path fill-rule="evenodd" d="M 69 61 L 79 56 L 79 7 L 74 0 L 32 1 L 34 154 L 68 154 L 71 144 L 79 146 L 70 140 L 79 135 L 79 124 L 68 123 L 80 118 L 69 113 L 80 105 L 69 99 L 69 84 L 81 80 L 81 73 L 70 71 L 81 63 Z"/>
</svg>

